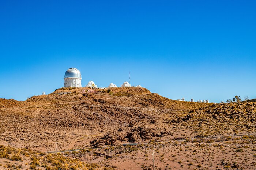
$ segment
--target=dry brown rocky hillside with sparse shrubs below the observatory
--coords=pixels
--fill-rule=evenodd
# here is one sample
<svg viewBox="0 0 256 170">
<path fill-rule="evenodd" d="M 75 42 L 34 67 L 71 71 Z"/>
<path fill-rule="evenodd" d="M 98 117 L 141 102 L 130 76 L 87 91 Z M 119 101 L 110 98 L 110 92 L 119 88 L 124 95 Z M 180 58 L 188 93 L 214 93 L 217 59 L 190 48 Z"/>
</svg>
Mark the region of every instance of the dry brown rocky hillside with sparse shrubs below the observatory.
<svg viewBox="0 0 256 170">
<path fill-rule="evenodd" d="M 61 88 L 25 102 L 0 99 L 0 145 L 43 152 L 71 150 L 63 156 L 78 158 L 81 165 L 65 159 L 67 169 L 73 164 L 76 169 L 153 169 L 153 150 L 156 169 L 256 167 L 256 103 L 178 102 L 145 88 L 82 94 L 83 89 L 88 90 Z M 127 143 L 138 145 L 123 146 Z M 94 147 L 99 148 L 89 149 Z M 23 169 L 34 164 L 36 169 L 47 168 L 43 166 L 47 155 L 39 152 L 17 152 L 22 162 L 3 158 L 1 152 L 0 169 L 14 169 L 7 164 L 15 163 Z M 40 158 L 38 164 L 33 155 Z M 47 166 L 64 169 L 65 161 L 59 159 L 60 164 Z"/>
</svg>

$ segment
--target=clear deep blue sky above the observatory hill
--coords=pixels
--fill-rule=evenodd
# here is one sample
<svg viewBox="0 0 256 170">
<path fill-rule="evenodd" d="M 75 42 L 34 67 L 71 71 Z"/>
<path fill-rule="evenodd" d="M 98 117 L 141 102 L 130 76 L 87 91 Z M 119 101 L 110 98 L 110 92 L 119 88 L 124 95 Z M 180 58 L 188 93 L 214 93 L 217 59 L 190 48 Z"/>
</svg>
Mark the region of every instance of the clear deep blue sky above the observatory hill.
<svg viewBox="0 0 256 170">
<path fill-rule="evenodd" d="M 256 1 L 1 1 L 0 98 L 128 81 L 171 99 L 256 98 Z"/>
</svg>

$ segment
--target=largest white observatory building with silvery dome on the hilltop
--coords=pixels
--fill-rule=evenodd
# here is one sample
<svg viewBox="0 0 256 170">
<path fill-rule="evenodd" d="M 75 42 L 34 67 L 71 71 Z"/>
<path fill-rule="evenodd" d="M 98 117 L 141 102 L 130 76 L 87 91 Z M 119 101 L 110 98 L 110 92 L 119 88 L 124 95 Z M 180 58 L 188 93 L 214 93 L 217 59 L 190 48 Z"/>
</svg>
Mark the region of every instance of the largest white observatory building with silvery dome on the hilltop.
<svg viewBox="0 0 256 170">
<path fill-rule="evenodd" d="M 64 87 L 82 87 L 82 76 L 78 69 L 69 68 L 64 75 Z"/>
</svg>

